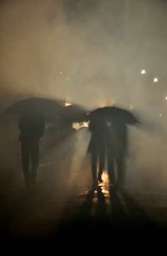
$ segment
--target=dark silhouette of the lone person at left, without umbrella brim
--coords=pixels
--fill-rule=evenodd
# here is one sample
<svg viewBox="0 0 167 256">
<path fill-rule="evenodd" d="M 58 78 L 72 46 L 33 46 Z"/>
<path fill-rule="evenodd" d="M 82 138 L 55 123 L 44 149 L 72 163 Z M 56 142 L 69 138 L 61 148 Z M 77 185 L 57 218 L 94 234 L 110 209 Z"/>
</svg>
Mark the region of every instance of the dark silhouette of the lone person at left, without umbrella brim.
<svg viewBox="0 0 167 256">
<path fill-rule="evenodd" d="M 36 186 L 36 174 L 39 164 L 40 137 L 45 132 L 45 120 L 32 104 L 23 112 L 19 120 L 18 128 L 21 129 L 19 140 L 21 141 L 21 156 L 25 186 Z M 31 168 L 30 168 L 31 159 Z"/>
</svg>

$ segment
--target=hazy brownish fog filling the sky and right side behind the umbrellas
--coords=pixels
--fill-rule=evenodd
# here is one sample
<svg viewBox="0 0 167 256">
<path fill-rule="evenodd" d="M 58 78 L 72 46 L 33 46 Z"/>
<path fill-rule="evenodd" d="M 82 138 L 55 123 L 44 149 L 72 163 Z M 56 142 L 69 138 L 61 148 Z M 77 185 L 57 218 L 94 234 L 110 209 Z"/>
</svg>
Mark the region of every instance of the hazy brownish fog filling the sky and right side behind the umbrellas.
<svg viewBox="0 0 167 256">
<path fill-rule="evenodd" d="M 141 124 L 129 127 L 127 186 L 166 188 L 166 11 L 163 0 L 0 1 L 1 112 L 31 95 L 130 109 Z M 1 154 L 15 129 L 1 127 Z"/>
</svg>

